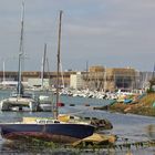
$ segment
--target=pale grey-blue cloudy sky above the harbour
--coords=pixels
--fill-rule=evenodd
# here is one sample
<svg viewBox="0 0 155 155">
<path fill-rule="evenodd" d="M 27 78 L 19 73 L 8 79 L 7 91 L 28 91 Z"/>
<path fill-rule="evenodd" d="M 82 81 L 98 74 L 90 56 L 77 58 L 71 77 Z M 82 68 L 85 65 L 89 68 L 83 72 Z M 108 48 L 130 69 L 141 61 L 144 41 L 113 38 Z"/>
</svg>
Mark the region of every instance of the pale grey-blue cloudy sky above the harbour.
<svg viewBox="0 0 155 155">
<path fill-rule="evenodd" d="M 44 43 L 45 70 L 56 71 L 60 10 L 63 71 L 154 69 L 155 0 L 24 0 L 24 71 L 41 70 Z M 18 70 L 21 12 L 22 0 L 0 0 L 0 70 Z"/>
</svg>

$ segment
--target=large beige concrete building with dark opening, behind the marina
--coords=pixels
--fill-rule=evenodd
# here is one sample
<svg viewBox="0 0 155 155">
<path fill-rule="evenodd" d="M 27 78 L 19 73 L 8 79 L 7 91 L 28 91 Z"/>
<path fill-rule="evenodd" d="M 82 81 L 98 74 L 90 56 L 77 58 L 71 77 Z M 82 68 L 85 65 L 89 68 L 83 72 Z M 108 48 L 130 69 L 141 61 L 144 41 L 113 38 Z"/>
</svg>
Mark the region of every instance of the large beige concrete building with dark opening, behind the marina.
<svg viewBox="0 0 155 155">
<path fill-rule="evenodd" d="M 136 86 L 136 71 L 131 68 L 105 69 L 104 66 L 91 66 L 89 72 L 83 75 L 83 79 L 90 90 L 133 90 Z"/>
</svg>

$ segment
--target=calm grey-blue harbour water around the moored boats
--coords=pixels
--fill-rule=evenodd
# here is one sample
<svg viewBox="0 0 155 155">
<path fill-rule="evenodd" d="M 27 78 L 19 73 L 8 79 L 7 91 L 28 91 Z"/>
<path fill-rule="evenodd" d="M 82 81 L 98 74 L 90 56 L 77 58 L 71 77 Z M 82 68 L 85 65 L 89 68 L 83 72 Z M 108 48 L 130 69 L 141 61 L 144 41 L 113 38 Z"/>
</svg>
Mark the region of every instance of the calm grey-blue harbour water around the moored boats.
<svg viewBox="0 0 155 155">
<path fill-rule="evenodd" d="M 0 97 L 6 97 L 10 94 L 10 91 L 1 91 Z M 61 101 L 65 103 L 64 107 L 60 108 L 60 113 L 74 113 L 80 116 L 90 116 L 90 117 L 99 117 L 99 118 L 107 118 L 113 124 L 113 130 L 108 131 L 110 134 L 115 134 L 118 136 L 117 144 L 125 143 L 125 138 L 127 142 L 141 142 L 141 141 L 148 141 L 146 127 L 149 124 L 155 124 L 155 117 L 147 117 L 147 116 L 138 116 L 132 114 L 118 114 L 118 113 L 110 113 L 105 111 L 94 111 L 93 106 L 101 106 L 108 104 L 110 101 L 105 100 L 95 100 L 95 99 L 82 99 L 82 97 L 69 97 L 69 96 L 61 96 Z M 91 106 L 85 106 L 85 103 L 89 103 Z M 75 106 L 70 106 L 70 104 L 75 104 Z M 0 122 L 11 122 L 18 121 L 23 116 L 52 116 L 51 112 L 0 112 Z M 10 147 L 10 145 L 6 145 L 6 141 L 0 138 L 0 149 L 1 153 L 10 152 L 13 154 L 17 152 L 17 147 Z M 45 148 L 42 149 L 40 154 L 73 154 L 76 151 L 69 151 L 66 148 L 59 148 L 59 151 L 46 151 Z M 29 152 L 29 151 L 28 151 Z M 100 151 L 97 154 L 113 154 L 113 155 L 125 155 L 126 148 L 116 149 L 111 153 L 107 151 Z M 27 153 L 27 152 L 22 152 Z M 31 151 L 30 151 L 31 153 Z M 87 152 L 81 152 L 81 154 L 86 154 Z M 20 153 L 19 153 L 20 154 Z M 78 152 L 79 154 L 79 152 Z M 94 152 L 89 152 L 87 154 L 95 154 Z M 133 155 L 155 155 L 154 147 L 132 147 Z"/>
</svg>

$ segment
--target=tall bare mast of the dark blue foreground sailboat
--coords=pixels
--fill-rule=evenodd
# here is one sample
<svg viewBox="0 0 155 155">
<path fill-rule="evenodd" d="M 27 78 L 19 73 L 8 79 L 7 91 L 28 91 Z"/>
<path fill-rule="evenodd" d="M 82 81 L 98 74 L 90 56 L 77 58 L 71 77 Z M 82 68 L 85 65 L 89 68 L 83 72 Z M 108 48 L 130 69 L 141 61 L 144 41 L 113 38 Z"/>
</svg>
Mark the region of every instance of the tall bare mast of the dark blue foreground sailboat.
<svg viewBox="0 0 155 155">
<path fill-rule="evenodd" d="M 60 87 L 60 82 L 59 82 L 59 74 L 60 74 L 60 46 L 61 46 L 61 20 L 62 20 L 62 11 L 60 11 L 60 19 L 59 19 L 59 42 L 58 42 L 58 71 L 56 71 L 56 110 L 55 110 L 55 117 L 58 117 L 59 114 L 59 108 L 58 108 L 58 103 L 59 103 L 59 87 Z"/>
</svg>

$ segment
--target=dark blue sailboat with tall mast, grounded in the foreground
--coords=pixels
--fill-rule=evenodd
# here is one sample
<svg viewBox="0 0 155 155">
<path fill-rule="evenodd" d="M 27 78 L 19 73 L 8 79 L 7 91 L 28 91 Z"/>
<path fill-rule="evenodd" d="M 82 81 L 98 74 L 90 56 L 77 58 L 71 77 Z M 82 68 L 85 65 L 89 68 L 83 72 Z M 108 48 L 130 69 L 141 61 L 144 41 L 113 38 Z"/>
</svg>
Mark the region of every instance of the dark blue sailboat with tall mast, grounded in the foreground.
<svg viewBox="0 0 155 155">
<path fill-rule="evenodd" d="M 59 24 L 59 45 L 58 45 L 58 75 L 60 65 L 60 39 L 61 39 L 61 18 Z M 59 80 L 58 80 L 59 81 Z M 56 103 L 59 101 L 59 82 L 56 86 Z M 59 143 L 72 143 L 78 140 L 91 136 L 94 133 L 94 125 L 87 122 L 59 121 L 59 108 L 54 106 L 54 118 L 33 117 L 29 121 L 17 123 L 1 123 L 1 136 L 7 140 L 20 140 L 23 137 L 34 137 Z M 62 117 L 61 117 L 62 118 Z"/>
</svg>

